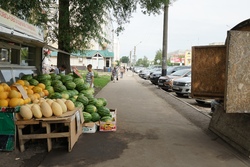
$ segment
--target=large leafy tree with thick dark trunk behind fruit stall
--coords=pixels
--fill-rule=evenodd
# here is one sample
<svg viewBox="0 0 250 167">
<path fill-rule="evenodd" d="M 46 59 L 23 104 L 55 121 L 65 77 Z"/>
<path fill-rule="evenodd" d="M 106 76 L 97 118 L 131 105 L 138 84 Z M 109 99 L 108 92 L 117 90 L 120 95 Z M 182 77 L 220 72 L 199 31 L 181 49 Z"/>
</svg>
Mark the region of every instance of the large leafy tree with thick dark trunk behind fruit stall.
<svg viewBox="0 0 250 167">
<path fill-rule="evenodd" d="M 55 1 L 0 0 L 0 4 L 3 9 L 20 18 L 47 27 L 45 29 L 51 31 L 47 39 L 57 41 L 58 49 L 68 53 L 84 51 L 93 39 L 100 44 L 111 42 L 104 37 L 102 29 L 102 25 L 107 23 L 106 18 L 116 21 L 115 32 L 119 34 L 139 5 L 144 14 L 150 15 L 160 14 L 163 6 L 169 4 L 169 0 L 59 0 L 59 12 L 50 18 L 48 14 Z M 48 22 L 55 23 L 55 27 L 48 27 Z M 68 73 L 70 56 L 59 52 L 57 65 L 62 64 L 67 66 Z"/>
</svg>

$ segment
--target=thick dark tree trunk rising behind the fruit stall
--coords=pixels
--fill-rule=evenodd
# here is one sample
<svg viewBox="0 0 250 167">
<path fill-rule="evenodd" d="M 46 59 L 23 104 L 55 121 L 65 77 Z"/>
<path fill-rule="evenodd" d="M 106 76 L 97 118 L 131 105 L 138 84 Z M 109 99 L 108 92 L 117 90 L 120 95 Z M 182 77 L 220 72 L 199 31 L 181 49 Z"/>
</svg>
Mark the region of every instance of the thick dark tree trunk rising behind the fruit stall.
<svg viewBox="0 0 250 167">
<path fill-rule="evenodd" d="M 70 53 L 70 18 L 69 18 L 69 0 L 59 0 L 59 31 L 58 31 L 58 49 Z M 71 72 L 70 55 L 58 52 L 57 67 L 61 65 L 67 67 L 66 74 Z"/>
</svg>

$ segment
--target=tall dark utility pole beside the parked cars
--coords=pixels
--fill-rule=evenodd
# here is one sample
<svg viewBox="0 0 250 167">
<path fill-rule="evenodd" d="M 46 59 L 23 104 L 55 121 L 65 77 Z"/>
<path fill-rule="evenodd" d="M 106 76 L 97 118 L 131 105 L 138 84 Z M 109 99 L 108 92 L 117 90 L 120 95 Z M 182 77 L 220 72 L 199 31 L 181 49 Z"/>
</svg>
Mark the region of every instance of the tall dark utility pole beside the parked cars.
<svg viewBox="0 0 250 167">
<path fill-rule="evenodd" d="M 168 5 L 169 1 L 164 5 L 163 19 L 163 46 L 162 46 L 162 76 L 167 75 L 167 49 L 168 49 Z"/>
</svg>

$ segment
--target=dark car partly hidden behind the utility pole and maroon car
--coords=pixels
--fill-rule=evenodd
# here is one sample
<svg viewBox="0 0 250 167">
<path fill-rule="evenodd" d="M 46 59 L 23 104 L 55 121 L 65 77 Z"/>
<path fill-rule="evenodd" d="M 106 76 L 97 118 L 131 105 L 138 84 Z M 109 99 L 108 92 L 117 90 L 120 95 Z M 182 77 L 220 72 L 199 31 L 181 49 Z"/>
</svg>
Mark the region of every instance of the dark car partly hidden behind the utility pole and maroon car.
<svg viewBox="0 0 250 167">
<path fill-rule="evenodd" d="M 167 66 L 167 75 L 170 75 L 182 69 L 191 69 L 191 66 Z M 162 74 L 161 71 L 157 71 L 157 72 L 150 74 L 150 78 L 149 78 L 150 81 L 153 84 L 158 85 L 158 79 L 161 77 L 161 74 Z"/>
</svg>

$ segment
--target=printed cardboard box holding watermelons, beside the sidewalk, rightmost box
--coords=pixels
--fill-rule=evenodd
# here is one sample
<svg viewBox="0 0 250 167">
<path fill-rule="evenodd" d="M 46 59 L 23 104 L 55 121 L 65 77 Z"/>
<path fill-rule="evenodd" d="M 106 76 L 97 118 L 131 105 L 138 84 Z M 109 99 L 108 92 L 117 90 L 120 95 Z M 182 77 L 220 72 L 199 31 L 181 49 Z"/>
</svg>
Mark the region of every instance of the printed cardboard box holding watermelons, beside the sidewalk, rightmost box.
<svg viewBox="0 0 250 167">
<path fill-rule="evenodd" d="M 101 132 L 116 131 L 116 129 L 117 129 L 117 125 L 116 125 L 117 109 L 110 109 L 110 114 L 112 115 L 112 121 L 111 122 L 100 121 L 99 131 L 101 131 Z"/>
</svg>

